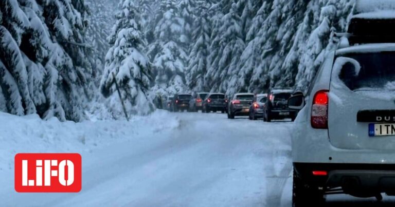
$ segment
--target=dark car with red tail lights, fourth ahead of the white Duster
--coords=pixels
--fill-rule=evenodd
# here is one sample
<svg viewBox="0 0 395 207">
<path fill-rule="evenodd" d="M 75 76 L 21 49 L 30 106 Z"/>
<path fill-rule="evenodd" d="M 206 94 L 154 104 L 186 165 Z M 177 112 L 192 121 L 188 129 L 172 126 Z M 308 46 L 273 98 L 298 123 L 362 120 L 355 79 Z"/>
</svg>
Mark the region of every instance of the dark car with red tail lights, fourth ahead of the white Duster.
<svg viewBox="0 0 395 207">
<path fill-rule="evenodd" d="M 225 114 L 227 111 L 227 102 L 228 100 L 224 93 L 210 93 L 203 101 L 202 112 L 209 113 L 210 111 L 221 111 L 222 114 Z"/>
</svg>

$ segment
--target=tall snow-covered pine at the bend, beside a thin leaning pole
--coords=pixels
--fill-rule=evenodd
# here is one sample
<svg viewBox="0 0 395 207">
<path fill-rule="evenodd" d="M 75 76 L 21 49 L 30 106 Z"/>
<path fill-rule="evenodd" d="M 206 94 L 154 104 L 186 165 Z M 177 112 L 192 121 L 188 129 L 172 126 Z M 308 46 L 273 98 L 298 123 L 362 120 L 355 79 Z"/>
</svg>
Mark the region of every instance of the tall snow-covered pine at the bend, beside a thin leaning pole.
<svg viewBox="0 0 395 207">
<path fill-rule="evenodd" d="M 137 4 L 133 0 L 123 0 L 120 8 L 109 37 L 112 47 L 106 55 L 100 84 L 103 95 L 110 97 L 110 106 L 115 118 L 123 117 L 115 81 L 129 114 L 146 115 L 154 109 L 152 100 L 148 97 L 151 81 L 150 62 L 143 53 L 146 42 L 141 32 L 141 16 Z"/>
</svg>

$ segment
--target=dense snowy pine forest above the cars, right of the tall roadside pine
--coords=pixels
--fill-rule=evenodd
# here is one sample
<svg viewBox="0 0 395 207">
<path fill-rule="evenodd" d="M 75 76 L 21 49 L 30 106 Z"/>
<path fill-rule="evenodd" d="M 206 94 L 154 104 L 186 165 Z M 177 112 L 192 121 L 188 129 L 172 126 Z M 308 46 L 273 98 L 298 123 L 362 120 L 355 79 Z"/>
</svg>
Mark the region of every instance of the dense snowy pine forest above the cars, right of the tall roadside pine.
<svg viewBox="0 0 395 207">
<path fill-rule="evenodd" d="M 154 16 L 143 27 L 152 90 L 165 95 L 306 90 L 354 7 L 353 0 L 138 2 Z"/>
</svg>

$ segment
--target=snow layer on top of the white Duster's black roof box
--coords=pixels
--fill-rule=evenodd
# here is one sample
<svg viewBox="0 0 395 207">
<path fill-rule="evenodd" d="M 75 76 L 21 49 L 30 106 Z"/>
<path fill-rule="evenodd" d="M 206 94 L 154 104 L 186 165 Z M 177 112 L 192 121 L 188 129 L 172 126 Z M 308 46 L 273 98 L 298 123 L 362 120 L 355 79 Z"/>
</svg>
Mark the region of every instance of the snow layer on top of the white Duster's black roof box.
<svg viewBox="0 0 395 207">
<path fill-rule="evenodd" d="M 355 3 L 356 14 L 379 12 L 385 10 L 395 10 L 395 1 L 393 0 L 357 0 Z"/>
</svg>

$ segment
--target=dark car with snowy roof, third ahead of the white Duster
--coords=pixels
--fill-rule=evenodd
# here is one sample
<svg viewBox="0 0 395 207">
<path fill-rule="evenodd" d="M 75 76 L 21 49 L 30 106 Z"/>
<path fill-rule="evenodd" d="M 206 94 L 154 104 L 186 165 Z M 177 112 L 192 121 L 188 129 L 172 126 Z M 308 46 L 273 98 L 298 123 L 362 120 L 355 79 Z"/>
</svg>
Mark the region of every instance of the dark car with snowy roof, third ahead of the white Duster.
<svg viewBox="0 0 395 207">
<path fill-rule="evenodd" d="M 254 101 L 253 93 L 236 93 L 228 106 L 228 119 L 235 119 L 235 116 L 248 116 L 249 106 Z"/>
</svg>

